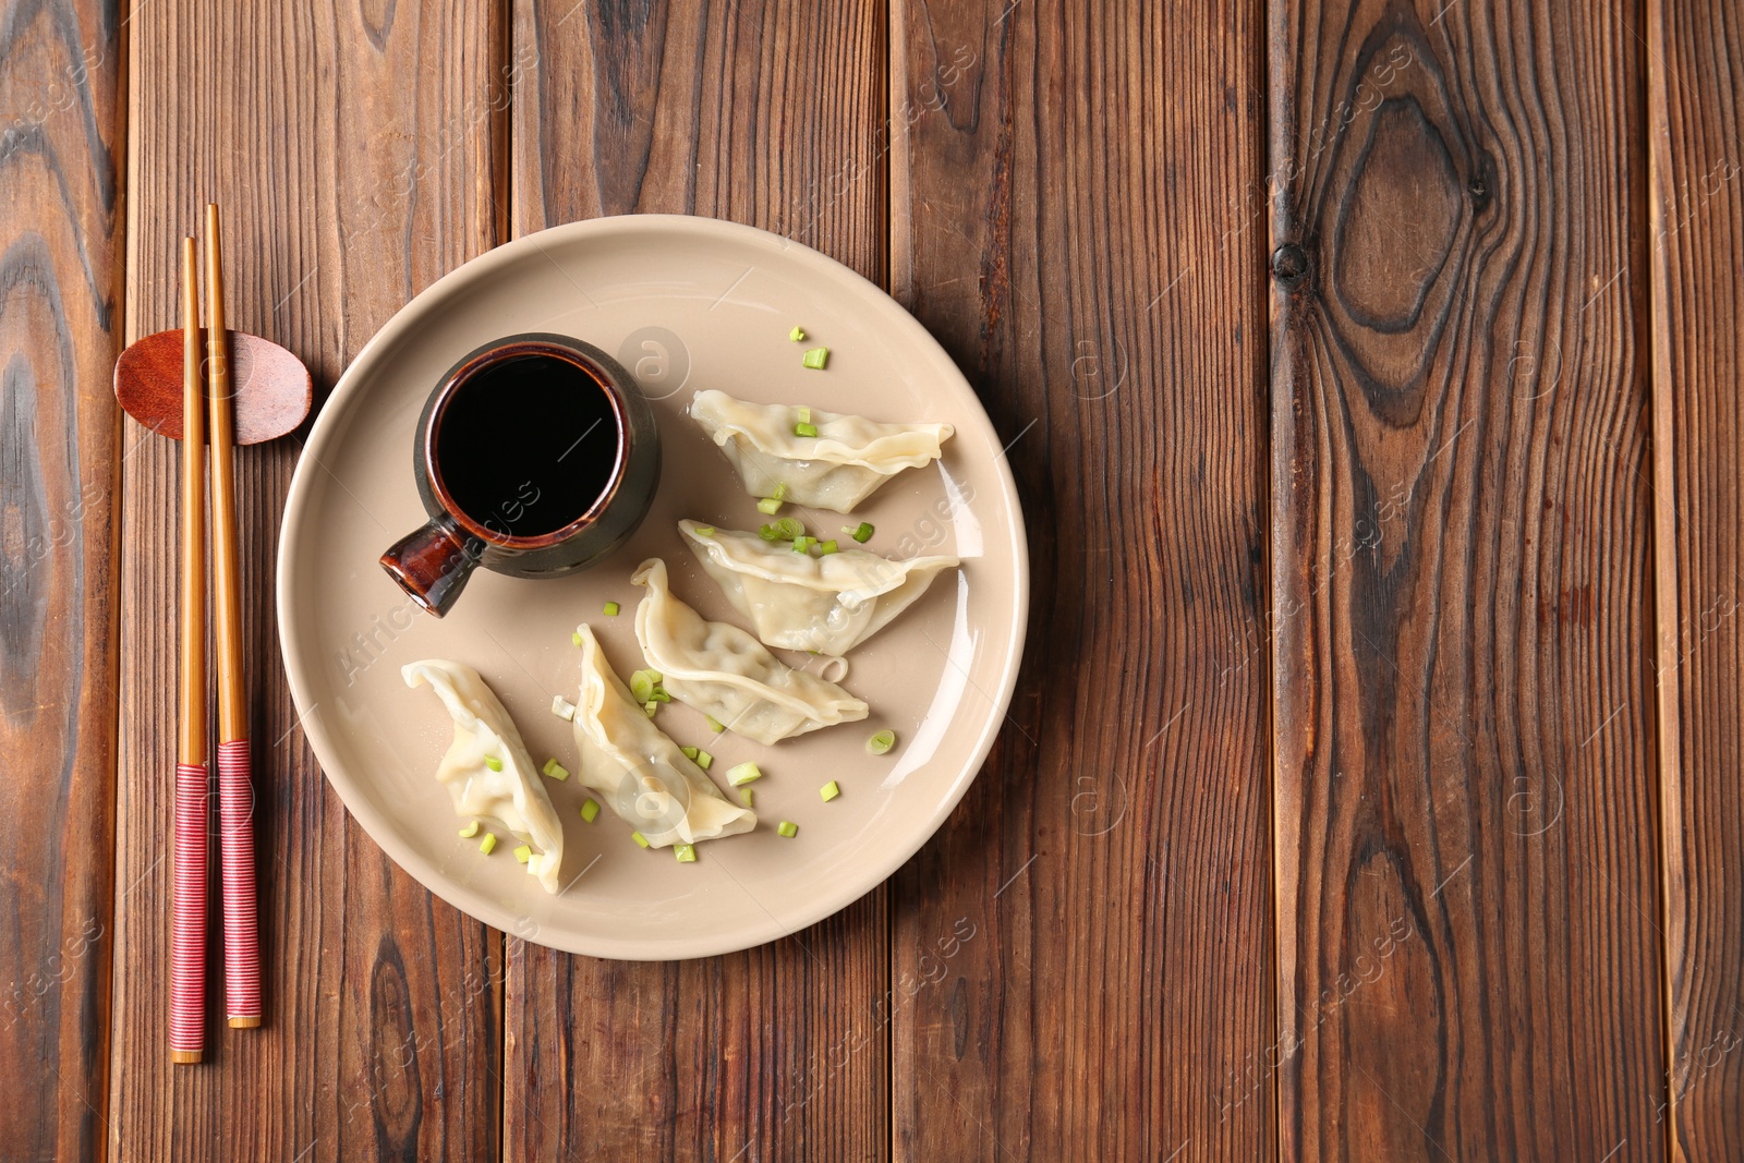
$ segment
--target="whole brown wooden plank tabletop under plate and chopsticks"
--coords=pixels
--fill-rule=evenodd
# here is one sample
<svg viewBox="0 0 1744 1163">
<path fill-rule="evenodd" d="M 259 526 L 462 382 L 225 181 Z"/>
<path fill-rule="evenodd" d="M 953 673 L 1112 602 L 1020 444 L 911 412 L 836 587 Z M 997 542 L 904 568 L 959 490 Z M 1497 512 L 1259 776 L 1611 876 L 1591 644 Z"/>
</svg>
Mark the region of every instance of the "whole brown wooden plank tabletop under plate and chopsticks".
<svg viewBox="0 0 1744 1163">
<path fill-rule="evenodd" d="M 0 1156 L 1744 1158 L 1735 0 L 3 12 Z M 699 962 L 457 914 L 303 743 L 249 448 L 269 1020 L 171 1067 L 178 464 L 110 366 L 208 199 L 317 394 L 577 218 L 888 286 L 1034 561 L 938 837 Z"/>
</svg>

